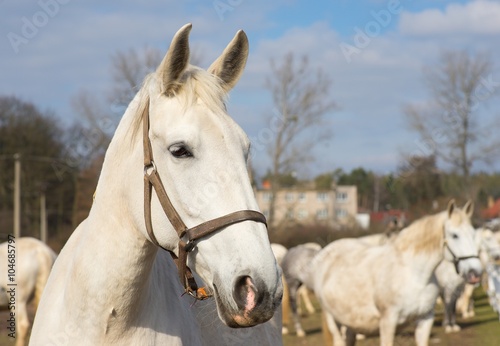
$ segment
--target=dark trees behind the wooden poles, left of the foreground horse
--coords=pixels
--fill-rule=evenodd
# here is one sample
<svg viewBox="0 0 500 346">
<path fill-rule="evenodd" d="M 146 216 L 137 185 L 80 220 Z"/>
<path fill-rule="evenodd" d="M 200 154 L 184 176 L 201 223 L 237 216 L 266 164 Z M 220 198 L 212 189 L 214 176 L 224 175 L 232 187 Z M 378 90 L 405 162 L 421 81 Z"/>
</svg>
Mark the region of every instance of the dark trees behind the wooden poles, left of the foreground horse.
<svg viewBox="0 0 500 346">
<path fill-rule="evenodd" d="M 0 233 L 13 230 L 14 167 L 20 163 L 21 234 L 40 237 L 40 200 L 46 198 L 49 237 L 65 238 L 80 220 L 84 195 L 90 207 L 103 153 L 104 133 L 65 125 L 50 111 L 0 96 Z M 94 169 L 91 179 L 89 169 Z M 87 183 L 85 181 L 87 180 Z M 83 184 L 82 184 L 83 182 Z M 88 186 L 86 186 L 88 185 Z M 91 190 L 88 192 L 87 190 Z M 84 212 L 88 212 L 88 209 Z M 2 239 L 0 239 L 1 241 Z"/>
</svg>

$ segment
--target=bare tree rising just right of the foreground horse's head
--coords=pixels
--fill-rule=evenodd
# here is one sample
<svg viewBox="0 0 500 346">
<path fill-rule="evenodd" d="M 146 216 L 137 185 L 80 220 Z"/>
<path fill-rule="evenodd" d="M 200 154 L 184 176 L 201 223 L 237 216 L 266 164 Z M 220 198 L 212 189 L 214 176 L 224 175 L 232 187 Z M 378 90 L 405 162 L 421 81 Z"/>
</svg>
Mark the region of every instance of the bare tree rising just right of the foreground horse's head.
<svg viewBox="0 0 500 346">
<path fill-rule="evenodd" d="M 314 147 L 332 135 L 326 115 L 336 105 L 330 97 L 331 80 L 320 68 L 314 70 L 306 56 L 296 61 L 288 53 L 279 64 L 271 60 L 271 72 L 266 88 L 275 110 L 268 117 L 275 137 L 267 148 L 272 165 L 269 224 L 273 225 L 280 177 L 314 159 Z"/>
</svg>

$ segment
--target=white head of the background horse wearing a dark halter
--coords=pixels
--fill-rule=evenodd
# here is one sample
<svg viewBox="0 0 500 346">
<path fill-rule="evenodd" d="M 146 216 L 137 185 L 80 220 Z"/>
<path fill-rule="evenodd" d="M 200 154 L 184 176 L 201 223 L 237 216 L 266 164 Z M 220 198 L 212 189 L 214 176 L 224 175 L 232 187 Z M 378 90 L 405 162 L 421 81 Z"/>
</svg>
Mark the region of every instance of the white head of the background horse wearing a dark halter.
<svg viewBox="0 0 500 346">
<path fill-rule="evenodd" d="M 482 272 L 475 231 L 470 222 L 473 212 L 474 204 L 471 201 L 460 209 L 451 200 L 444 222 L 445 259 L 453 262 L 457 274 L 462 275 L 469 283 L 479 282 Z"/>
</svg>

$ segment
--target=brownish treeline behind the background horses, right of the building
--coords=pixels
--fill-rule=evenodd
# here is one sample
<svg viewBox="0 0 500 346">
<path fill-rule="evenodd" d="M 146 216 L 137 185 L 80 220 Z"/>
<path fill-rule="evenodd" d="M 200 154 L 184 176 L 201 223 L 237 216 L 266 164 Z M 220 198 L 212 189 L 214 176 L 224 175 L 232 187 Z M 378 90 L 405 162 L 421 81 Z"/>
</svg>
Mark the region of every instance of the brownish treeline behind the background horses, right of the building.
<svg viewBox="0 0 500 346">
<path fill-rule="evenodd" d="M 451 198 L 458 203 L 472 199 L 476 214 L 488 200 L 500 198 L 500 173 L 473 173 L 464 178 L 439 169 L 433 155 L 402 160 L 394 173 L 381 175 L 362 167 L 350 172 L 337 169 L 315 177 L 314 186 L 330 189 L 334 184 L 355 185 L 360 212 L 399 209 L 409 212 L 412 218 L 444 209 Z M 263 179 L 269 180 L 269 175 Z M 283 188 L 304 184 L 294 174 L 283 174 L 275 180 Z"/>
</svg>

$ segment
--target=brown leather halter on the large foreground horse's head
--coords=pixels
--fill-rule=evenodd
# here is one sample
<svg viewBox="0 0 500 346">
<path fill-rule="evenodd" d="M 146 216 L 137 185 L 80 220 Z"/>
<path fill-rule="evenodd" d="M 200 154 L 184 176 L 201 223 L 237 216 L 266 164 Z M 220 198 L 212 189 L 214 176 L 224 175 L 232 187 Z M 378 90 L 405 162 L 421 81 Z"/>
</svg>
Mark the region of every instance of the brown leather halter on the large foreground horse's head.
<svg viewBox="0 0 500 346">
<path fill-rule="evenodd" d="M 185 288 L 185 293 L 188 293 L 196 299 L 206 299 L 209 295 L 203 287 L 198 288 L 191 269 L 187 266 L 187 255 L 195 248 L 196 241 L 224 227 L 242 221 L 261 222 L 267 227 L 266 217 L 262 213 L 255 210 L 240 210 L 188 229 L 168 198 L 167 192 L 165 191 L 160 175 L 158 174 L 156 165 L 153 161 L 153 150 L 151 147 L 151 141 L 149 140 L 149 99 L 146 100 L 146 106 L 142 114 L 142 119 L 144 147 L 144 218 L 146 221 L 146 230 L 148 231 L 151 241 L 162 249 L 168 251 L 174 259 L 179 271 L 179 279 Z M 178 257 L 172 251 L 161 246 L 153 233 L 153 225 L 151 221 L 152 188 L 155 189 L 163 211 L 179 236 Z M 187 236 L 187 242 L 182 240 L 184 236 Z"/>
</svg>

